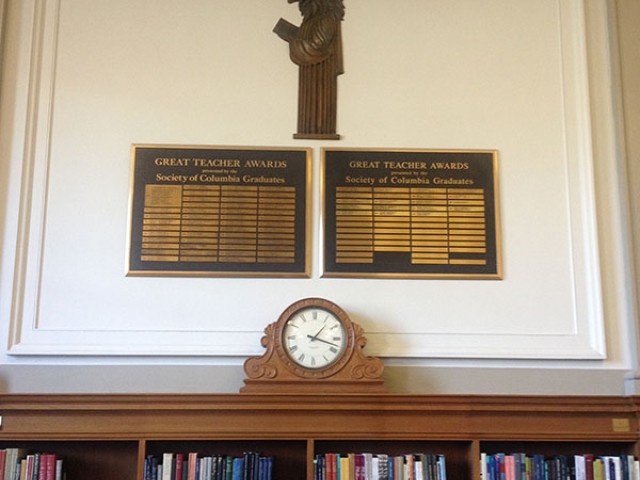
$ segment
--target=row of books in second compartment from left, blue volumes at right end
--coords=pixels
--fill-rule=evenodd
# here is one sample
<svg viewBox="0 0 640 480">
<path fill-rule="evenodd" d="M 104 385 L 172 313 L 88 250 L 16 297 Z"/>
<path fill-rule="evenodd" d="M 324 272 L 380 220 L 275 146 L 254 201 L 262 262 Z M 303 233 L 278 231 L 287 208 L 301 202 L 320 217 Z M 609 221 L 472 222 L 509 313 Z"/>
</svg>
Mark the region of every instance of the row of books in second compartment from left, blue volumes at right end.
<svg viewBox="0 0 640 480">
<path fill-rule="evenodd" d="M 258 452 L 240 456 L 167 452 L 145 458 L 144 480 L 271 480 L 272 470 L 273 457 Z"/>
</svg>

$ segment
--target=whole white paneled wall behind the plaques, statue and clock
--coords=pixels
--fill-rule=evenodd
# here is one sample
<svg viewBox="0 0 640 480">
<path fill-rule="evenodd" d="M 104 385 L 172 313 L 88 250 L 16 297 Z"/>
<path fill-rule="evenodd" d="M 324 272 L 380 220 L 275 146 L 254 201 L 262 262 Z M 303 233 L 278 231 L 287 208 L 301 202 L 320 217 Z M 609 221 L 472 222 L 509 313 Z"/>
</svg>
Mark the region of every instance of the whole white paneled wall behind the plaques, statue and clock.
<svg viewBox="0 0 640 480">
<path fill-rule="evenodd" d="M 322 296 L 395 391 L 622 392 L 637 362 L 607 1 L 345 2 L 337 143 L 291 138 L 284 1 L 6 3 L 5 390 L 236 391 L 264 326 Z M 312 277 L 125 277 L 132 143 L 313 147 Z M 322 146 L 497 149 L 504 279 L 320 278 Z"/>
</svg>

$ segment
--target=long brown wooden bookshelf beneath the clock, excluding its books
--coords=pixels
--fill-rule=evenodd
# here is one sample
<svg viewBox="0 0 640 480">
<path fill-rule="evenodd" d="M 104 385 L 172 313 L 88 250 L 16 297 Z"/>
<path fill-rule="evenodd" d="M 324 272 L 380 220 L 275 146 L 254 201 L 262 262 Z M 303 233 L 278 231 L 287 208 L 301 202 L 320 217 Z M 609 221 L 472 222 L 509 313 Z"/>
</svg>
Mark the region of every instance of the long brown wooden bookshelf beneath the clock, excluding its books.
<svg viewBox="0 0 640 480">
<path fill-rule="evenodd" d="M 65 460 L 68 480 L 142 480 L 163 452 L 257 450 L 274 479 L 311 480 L 329 452 L 446 455 L 478 480 L 480 452 L 638 454 L 638 397 L 475 395 L 0 395 L 0 448 Z"/>
</svg>

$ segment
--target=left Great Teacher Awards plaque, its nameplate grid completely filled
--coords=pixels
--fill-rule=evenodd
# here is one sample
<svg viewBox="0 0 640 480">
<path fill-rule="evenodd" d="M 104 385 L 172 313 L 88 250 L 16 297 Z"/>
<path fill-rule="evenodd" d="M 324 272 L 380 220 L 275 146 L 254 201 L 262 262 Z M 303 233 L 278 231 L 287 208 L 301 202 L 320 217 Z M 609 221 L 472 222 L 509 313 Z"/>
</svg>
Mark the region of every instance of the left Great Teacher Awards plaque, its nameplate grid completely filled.
<svg viewBox="0 0 640 480">
<path fill-rule="evenodd" d="M 133 145 L 128 275 L 309 276 L 309 149 Z"/>
</svg>

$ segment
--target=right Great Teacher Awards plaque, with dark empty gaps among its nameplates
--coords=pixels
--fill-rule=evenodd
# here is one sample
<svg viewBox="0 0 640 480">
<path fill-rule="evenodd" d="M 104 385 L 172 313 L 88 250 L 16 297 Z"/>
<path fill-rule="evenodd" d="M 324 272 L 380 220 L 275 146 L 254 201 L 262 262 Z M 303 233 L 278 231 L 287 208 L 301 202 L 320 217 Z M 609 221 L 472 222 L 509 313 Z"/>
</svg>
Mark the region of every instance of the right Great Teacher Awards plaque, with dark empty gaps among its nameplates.
<svg viewBox="0 0 640 480">
<path fill-rule="evenodd" d="M 501 278 L 497 159 L 324 149 L 323 276 Z"/>
</svg>

